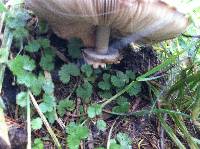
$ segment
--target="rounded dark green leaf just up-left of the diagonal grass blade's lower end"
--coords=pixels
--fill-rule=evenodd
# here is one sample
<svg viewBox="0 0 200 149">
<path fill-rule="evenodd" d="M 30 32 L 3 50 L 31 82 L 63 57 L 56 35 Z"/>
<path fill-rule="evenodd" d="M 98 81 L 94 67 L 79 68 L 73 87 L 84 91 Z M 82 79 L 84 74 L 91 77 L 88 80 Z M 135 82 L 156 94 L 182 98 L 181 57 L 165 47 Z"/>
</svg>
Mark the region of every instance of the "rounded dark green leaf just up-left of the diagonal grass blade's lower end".
<svg viewBox="0 0 200 149">
<path fill-rule="evenodd" d="M 85 82 L 76 89 L 76 95 L 84 100 L 87 100 L 91 97 L 92 90 L 92 85 L 89 82 Z"/>
</svg>

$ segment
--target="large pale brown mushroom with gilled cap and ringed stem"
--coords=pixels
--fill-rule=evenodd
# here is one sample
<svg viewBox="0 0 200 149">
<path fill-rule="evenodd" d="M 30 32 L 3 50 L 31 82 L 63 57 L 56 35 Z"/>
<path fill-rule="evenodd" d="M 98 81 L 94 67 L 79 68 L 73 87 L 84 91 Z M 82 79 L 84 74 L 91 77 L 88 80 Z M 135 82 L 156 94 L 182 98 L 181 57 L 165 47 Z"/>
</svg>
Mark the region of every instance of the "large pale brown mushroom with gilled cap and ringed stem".
<svg viewBox="0 0 200 149">
<path fill-rule="evenodd" d="M 188 18 L 168 0 L 26 0 L 54 32 L 64 38 L 79 37 L 88 64 L 105 67 L 118 63 L 119 50 L 112 37 L 127 44 L 154 43 L 183 32 Z"/>
</svg>

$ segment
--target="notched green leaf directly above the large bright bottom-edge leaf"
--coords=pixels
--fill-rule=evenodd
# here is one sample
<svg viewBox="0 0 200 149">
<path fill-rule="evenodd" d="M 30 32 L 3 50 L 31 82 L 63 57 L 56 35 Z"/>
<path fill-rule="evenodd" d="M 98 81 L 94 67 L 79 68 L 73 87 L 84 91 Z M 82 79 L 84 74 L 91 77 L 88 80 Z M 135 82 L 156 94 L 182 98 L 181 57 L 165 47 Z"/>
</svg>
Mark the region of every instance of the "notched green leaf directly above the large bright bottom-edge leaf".
<svg viewBox="0 0 200 149">
<path fill-rule="evenodd" d="M 75 103 L 72 100 L 69 99 L 63 99 L 59 101 L 59 104 L 57 105 L 58 114 L 60 116 L 64 116 L 66 110 L 73 111 L 75 108 Z"/>
</svg>

